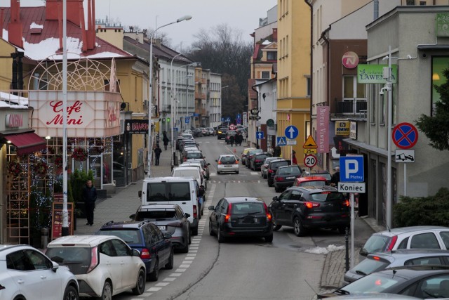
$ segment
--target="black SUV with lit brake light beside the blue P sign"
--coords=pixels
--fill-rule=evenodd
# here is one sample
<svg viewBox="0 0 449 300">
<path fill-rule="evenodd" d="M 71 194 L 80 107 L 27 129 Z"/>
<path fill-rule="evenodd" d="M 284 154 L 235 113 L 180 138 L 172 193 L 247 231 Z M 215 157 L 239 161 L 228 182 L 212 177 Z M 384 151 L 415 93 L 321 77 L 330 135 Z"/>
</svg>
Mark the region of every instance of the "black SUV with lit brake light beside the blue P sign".
<svg viewBox="0 0 449 300">
<path fill-rule="evenodd" d="M 273 216 L 273 230 L 282 226 L 293 227 L 295 235 L 302 237 L 308 228 L 349 228 L 349 200 L 330 186 L 291 187 L 269 204 Z"/>
</svg>

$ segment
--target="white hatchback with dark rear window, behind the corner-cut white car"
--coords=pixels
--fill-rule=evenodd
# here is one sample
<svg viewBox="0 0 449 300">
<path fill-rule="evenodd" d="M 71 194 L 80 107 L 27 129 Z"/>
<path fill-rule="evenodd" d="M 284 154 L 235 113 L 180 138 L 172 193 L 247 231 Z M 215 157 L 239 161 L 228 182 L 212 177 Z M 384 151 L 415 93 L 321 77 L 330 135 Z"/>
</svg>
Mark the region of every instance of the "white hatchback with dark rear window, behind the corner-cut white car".
<svg viewBox="0 0 449 300">
<path fill-rule="evenodd" d="M 74 273 L 79 282 L 80 296 L 112 299 L 112 296 L 128 289 L 133 289 L 136 295 L 145 292 L 146 271 L 140 252 L 131 249 L 119 237 L 58 237 L 48 243 L 46 254 Z"/>
</svg>

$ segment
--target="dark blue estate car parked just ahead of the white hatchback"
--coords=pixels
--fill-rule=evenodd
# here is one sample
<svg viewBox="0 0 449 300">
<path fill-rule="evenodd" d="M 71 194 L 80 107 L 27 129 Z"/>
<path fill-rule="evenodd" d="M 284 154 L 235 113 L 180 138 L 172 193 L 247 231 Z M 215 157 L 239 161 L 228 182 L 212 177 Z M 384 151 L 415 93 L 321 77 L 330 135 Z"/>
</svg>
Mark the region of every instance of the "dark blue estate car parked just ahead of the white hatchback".
<svg viewBox="0 0 449 300">
<path fill-rule="evenodd" d="M 156 281 L 159 278 L 159 269 L 173 269 L 173 247 L 171 234 L 161 233 L 154 223 L 140 222 L 114 222 L 105 223 L 95 235 L 114 235 L 120 237 L 132 249 L 140 252 L 140 259 L 147 268 L 147 278 Z"/>
</svg>

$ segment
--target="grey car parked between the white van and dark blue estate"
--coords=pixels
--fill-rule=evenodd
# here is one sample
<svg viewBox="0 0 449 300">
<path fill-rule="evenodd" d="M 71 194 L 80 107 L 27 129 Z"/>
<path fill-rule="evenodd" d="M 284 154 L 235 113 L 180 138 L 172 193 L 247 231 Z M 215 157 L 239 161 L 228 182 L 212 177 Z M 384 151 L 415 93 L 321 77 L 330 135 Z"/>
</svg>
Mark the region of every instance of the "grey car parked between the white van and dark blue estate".
<svg viewBox="0 0 449 300">
<path fill-rule="evenodd" d="M 170 233 L 174 249 L 187 253 L 191 242 L 189 216 L 177 204 L 149 204 L 141 205 L 129 217 L 133 221 L 151 221 L 163 234 Z"/>
</svg>

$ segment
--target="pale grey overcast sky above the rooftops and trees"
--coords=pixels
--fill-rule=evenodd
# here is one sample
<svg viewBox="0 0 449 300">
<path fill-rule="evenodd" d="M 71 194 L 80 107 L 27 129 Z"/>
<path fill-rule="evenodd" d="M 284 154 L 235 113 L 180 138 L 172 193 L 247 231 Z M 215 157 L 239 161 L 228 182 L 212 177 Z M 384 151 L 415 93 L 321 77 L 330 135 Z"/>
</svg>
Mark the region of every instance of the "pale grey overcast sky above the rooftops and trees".
<svg viewBox="0 0 449 300">
<path fill-rule="evenodd" d="M 86 0 L 84 7 L 87 8 Z M 0 6 L 9 7 L 11 0 L 0 0 Z M 42 6 L 42 0 L 20 0 L 21 6 Z M 189 45 L 193 34 L 201 28 L 227 24 L 241 30 L 246 41 L 253 39 L 249 34 L 259 27 L 259 18 L 266 18 L 267 11 L 276 6 L 277 0 L 97 0 L 95 18 L 119 20 L 121 25 L 138 25 L 140 28 L 155 28 L 175 21 L 183 15 L 192 15 L 189 21 L 163 27 L 171 39 L 171 46 L 182 42 Z"/>
</svg>

